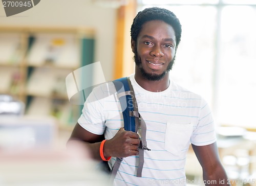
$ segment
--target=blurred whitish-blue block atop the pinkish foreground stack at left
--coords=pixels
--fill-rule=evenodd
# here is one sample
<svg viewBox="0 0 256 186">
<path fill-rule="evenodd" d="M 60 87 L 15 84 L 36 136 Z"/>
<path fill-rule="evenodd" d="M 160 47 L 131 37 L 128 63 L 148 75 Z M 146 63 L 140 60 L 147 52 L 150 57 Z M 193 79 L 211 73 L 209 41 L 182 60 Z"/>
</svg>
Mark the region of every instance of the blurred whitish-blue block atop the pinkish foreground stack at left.
<svg viewBox="0 0 256 186">
<path fill-rule="evenodd" d="M 0 116 L 0 150 L 52 148 L 56 126 L 53 118 Z"/>
</svg>

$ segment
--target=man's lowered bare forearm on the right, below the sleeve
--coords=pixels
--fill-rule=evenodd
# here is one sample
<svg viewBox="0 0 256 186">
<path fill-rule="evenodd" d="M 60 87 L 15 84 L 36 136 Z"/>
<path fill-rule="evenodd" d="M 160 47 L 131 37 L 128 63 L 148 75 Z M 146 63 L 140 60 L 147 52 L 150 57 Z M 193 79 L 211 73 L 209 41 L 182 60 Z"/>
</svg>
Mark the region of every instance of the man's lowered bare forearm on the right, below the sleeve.
<svg viewBox="0 0 256 186">
<path fill-rule="evenodd" d="M 230 185 L 222 167 L 216 143 L 206 146 L 192 145 L 192 147 L 203 168 L 205 185 Z"/>
</svg>

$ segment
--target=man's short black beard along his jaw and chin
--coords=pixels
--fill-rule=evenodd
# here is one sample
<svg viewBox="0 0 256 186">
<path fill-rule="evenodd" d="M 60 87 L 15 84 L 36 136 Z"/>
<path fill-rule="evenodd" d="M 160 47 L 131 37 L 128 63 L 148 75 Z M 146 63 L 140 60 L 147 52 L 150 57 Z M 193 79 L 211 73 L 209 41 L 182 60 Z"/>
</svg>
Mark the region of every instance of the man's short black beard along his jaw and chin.
<svg viewBox="0 0 256 186">
<path fill-rule="evenodd" d="M 169 62 L 166 70 L 162 74 L 156 74 L 156 73 L 147 73 L 144 70 L 144 68 L 142 67 L 141 58 L 138 56 L 137 51 L 134 53 L 133 58 L 134 58 L 136 66 L 140 69 L 142 76 L 145 79 L 150 80 L 150 81 L 159 81 L 159 80 L 163 79 L 165 74 L 173 68 L 174 60 L 175 60 L 175 56 L 174 56 L 174 58 Z"/>
</svg>

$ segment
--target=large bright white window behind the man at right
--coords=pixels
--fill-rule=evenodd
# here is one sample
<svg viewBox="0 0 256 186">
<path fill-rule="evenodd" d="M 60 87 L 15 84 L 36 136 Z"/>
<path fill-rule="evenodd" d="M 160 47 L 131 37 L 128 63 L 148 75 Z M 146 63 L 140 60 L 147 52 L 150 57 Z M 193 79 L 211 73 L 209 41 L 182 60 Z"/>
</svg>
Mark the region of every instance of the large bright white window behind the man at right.
<svg viewBox="0 0 256 186">
<path fill-rule="evenodd" d="M 158 6 L 177 15 L 182 37 L 170 76 L 207 100 L 218 125 L 255 129 L 256 1 L 205 2 L 144 0 L 138 11 Z"/>
</svg>

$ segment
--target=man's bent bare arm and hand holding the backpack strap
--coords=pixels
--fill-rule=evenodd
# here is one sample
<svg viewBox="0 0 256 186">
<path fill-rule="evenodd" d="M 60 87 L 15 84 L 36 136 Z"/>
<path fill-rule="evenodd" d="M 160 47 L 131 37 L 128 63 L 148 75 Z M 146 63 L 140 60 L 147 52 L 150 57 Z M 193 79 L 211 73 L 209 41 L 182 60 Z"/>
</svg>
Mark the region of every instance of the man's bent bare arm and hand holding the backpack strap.
<svg viewBox="0 0 256 186">
<path fill-rule="evenodd" d="M 84 148 L 89 148 L 94 159 L 101 160 L 99 148 L 100 143 L 104 139 L 104 135 L 97 135 L 82 128 L 78 123 L 75 125 L 74 130 L 69 138 L 67 146 L 72 143 L 82 142 Z M 107 140 L 104 144 L 103 154 L 107 158 L 114 157 L 127 157 L 139 154 L 139 135 L 132 131 L 125 131 L 121 128 L 116 135 Z"/>
</svg>

